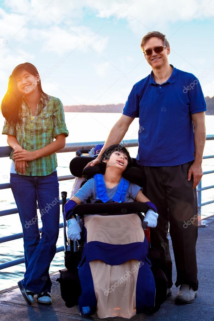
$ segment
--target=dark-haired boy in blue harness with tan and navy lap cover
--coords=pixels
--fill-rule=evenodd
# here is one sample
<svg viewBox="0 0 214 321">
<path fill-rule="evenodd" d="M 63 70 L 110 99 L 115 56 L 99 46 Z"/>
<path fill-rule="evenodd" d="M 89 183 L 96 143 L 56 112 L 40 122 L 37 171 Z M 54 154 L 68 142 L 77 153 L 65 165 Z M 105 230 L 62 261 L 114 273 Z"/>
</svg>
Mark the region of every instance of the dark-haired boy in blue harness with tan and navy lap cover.
<svg viewBox="0 0 214 321">
<path fill-rule="evenodd" d="M 125 147 L 108 147 L 101 157 L 104 175 L 95 174 L 64 206 L 69 239 L 79 240 L 81 231 L 83 235 L 78 265 L 81 314 L 97 312 L 100 318 L 131 318 L 136 313 L 157 311 L 166 298 L 166 278 L 158 271 L 155 280 L 151 271 L 148 241 L 139 215 L 89 214 L 84 215 L 81 224 L 73 215 L 73 208 L 88 199 L 91 203 L 137 201 L 148 205 L 144 222 L 154 228 L 158 219 L 156 206 L 143 195 L 140 186 L 122 176 L 131 163 Z"/>
</svg>

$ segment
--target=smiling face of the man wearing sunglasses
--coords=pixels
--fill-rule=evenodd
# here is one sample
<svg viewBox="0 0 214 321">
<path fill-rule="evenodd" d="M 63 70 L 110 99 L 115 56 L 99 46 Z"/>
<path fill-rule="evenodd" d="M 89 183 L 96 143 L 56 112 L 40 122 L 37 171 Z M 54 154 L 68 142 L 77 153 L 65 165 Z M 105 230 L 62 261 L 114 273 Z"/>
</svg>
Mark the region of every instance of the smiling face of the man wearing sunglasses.
<svg viewBox="0 0 214 321">
<path fill-rule="evenodd" d="M 148 49 L 154 49 L 156 47 L 164 46 L 163 41 L 158 37 L 151 37 L 144 45 L 143 51 Z M 165 47 L 163 51 L 156 53 L 152 50 L 151 55 L 145 55 L 148 64 L 152 68 L 161 68 L 168 65 L 168 55 L 170 53 L 170 48 Z"/>
</svg>

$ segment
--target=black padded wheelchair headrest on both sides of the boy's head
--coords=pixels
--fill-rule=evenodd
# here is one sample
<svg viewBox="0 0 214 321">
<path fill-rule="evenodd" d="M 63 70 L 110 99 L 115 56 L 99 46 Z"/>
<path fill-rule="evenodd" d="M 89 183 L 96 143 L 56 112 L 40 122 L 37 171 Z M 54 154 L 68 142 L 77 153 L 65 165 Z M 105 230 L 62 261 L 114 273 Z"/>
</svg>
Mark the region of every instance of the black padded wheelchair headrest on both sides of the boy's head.
<svg viewBox="0 0 214 321">
<path fill-rule="evenodd" d="M 105 173 L 105 167 L 102 164 L 98 164 L 93 167 L 84 167 L 90 162 L 94 160 L 94 157 L 75 157 L 70 162 L 70 171 L 71 174 L 76 177 L 85 176 L 86 179 L 92 178 L 95 174 L 103 174 Z M 140 166 L 137 164 L 135 158 L 132 159 L 132 164 L 129 168 L 127 168 L 124 173 L 123 177 L 127 179 L 129 182 L 139 185 L 143 187 L 144 176 Z"/>
</svg>

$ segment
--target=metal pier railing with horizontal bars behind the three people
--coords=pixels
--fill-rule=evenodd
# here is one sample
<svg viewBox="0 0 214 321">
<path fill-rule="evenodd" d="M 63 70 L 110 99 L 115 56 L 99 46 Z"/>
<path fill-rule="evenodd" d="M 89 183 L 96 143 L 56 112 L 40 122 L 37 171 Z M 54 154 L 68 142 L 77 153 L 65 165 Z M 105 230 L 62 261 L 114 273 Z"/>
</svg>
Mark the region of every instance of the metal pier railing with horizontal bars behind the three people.
<svg viewBox="0 0 214 321">
<path fill-rule="evenodd" d="M 206 140 L 214 140 L 214 135 L 207 135 L 206 136 Z M 58 151 L 58 153 L 76 152 L 78 149 L 83 149 L 83 148 L 90 149 L 90 148 L 94 147 L 95 145 L 103 144 L 103 143 L 104 142 L 67 143 L 63 149 Z M 136 146 L 138 146 L 138 140 L 137 139 L 133 139 L 133 140 L 129 140 L 129 141 L 122 141 L 122 143 L 124 143 L 126 147 L 136 147 Z M 0 147 L 0 158 L 10 156 L 11 151 L 12 151 L 12 149 L 9 146 Z M 203 157 L 203 159 L 208 159 L 208 158 L 214 158 L 214 155 L 204 156 Z M 203 172 L 204 175 L 211 174 L 211 173 L 214 173 L 214 170 Z M 59 181 L 64 181 L 64 180 L 74 179 L 74 178 L 75 177 L 73 175 L 66 175 L 66 176 L 59 176 L 58 180 Z M 207 190 L 207 189 L 210 189 L 210 188 L 213 188 L 213 187 L 214 187 L 214 185 L 201 187 L 201 182 L 198 185 L 197 195 L 198 195 L 198 214 L 199 214 L 199 219 L 201 219 L 201 207 L 204 206 L 204 205 L 207 205 L 207 204 L 214 203 L 214 200 L 211 200 L 211 201 L 208 201 L 208 202 L 205 202 L 205 203 L 201 204 L 201 191 Z M 0 184 L 0 189 L 6 189 L 6 188 L 10 188 L 10 183 Z M 62 200 L 60 200 L 60 204 L 62 204 Z M 3 210 L 3 211 L 0 211 L 0 217 L 1 216 L 15 214 L 15 213 L 18 213 L 17 208 Z M 202 225 L 202 224 L 199 223 L 199 225 Z M 63 223 L 60 223 L 59 224 L 59 228 L 62 228 L 62 227 L 63 227 Z M 40 229 L 40 232 L 41 232 L 41 229 Z M 8 236 L 3 236 L 3 237 L 0 238 L 0 243 L 4 243 L 4 242 L 16 240 L 16 239 L 21 239 L 22 237 L 23 237 L 23 233 L 17 233 L 17 234 L 12 234 L 12 235 L 8 235 Z M 56 253 L 61 252 L 61 251 L 64 251 L 64 246 L 57 247 Z M 18 265 L 18 264 L 21 264 L 21 263 L 24 263 L 24 257 L 21 257 L 19 259 L 8 261 L 8 262 L 0 264 L 0 270 L 8 268 L 8 267 L 11 267 L 11 266 L 14 266 L 14 265 Z"/>
</svg>

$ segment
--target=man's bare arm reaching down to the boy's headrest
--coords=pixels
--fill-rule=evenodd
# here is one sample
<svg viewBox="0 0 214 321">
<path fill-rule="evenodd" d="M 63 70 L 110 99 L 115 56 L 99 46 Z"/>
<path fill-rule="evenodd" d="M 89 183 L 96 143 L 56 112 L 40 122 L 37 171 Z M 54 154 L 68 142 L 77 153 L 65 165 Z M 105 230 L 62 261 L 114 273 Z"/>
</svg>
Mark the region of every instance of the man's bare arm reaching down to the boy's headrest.
<svg viewBox="0 0 214 321">
<path fill-rule="evenodd" d="M 129 129 L 130 124 L 133 122 L 134 118 L 122 115 L 120 119 L 116 122 L 116 124 L 112 127 L 108 138 L 101 149 L 98 157 L 87 164 L 87 166 L 94 166 L 97 165 L 100 161 L 102 153 L 105 151 L 105 149 L 113 144 L 119 144 L 122 139 L 124 138 L 125 133 Z"/>
</svg>

